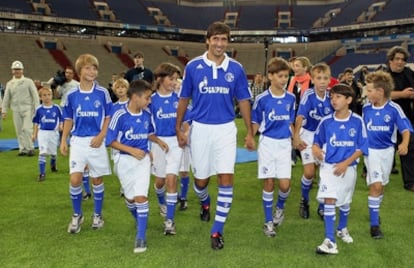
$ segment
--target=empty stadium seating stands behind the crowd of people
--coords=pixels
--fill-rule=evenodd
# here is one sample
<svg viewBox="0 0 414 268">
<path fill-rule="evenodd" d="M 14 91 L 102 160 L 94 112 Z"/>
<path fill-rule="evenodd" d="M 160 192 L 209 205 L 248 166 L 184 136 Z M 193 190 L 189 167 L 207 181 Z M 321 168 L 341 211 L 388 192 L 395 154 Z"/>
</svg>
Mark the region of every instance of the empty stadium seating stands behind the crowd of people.
<svg viewBox="0 0 414 268">
<path fill-rule="evenodd" d="M 26 75 L 47 81 L 79 54 L 93 52 L 105 63 L 99 82 L 106 86 L 112 73 L 133 65 L 136 50 L 151 69 L 163 61 L 183 67 L 204 51 L 204 28 L 212 21 L 231 26 L 228 54 L 250 78 L 273 56 L 306 55 L 312 63 L 327 62 L 336 76 L 346 67 L 355 73 L 362 65 L 376 68 L 393 45 L 413 50 L 408 0 L 121 2 L 3 0 L 1 61 L 41 66 L 26 68 Z M 2 83 L 10 73 L 6 65 Z"/>
</svg>

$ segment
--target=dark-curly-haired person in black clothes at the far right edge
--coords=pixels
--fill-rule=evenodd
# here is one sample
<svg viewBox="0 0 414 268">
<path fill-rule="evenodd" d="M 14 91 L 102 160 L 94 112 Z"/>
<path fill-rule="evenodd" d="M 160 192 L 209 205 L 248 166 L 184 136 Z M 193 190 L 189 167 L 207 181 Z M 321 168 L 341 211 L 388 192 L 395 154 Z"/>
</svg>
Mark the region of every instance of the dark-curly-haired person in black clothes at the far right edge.
<svg viewBox="0 0 414 268">
<path fill-rule="evenodd" d="M 398 103 L 411 126 L 414 124 L 414 71 L 406 66 L 410 53 L 401 46 L 394 46 L 388 50 L 387 71 L 394 80 L 394 90 L 391 91 L 391 99 Z M 401 135 L 397 135 L 397 144 L 401 143 Z M 404 189 L 414 192 L 414 134 L 410 135 L 408 153 L 400 155 L 401 173 Z"/>
</svg>

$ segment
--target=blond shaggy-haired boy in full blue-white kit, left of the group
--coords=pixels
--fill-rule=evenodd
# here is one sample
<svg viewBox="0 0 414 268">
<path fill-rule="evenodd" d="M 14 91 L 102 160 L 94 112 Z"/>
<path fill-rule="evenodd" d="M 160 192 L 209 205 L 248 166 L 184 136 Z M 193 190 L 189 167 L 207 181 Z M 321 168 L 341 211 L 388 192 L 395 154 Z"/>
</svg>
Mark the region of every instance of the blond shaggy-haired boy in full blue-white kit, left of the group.
<svg viewBox="0 0 414 268">
<path fill-rule="evenodd" d="M 91 54 L 82 54 L 75 63 L 80 77 L 77 88 L 68 92 L 67 102 L 63 109 L 63 133 L 60 151 L 68 154 L 67 138 L 70 138 L 69 172 L 70 197 L 73 215 L 68 232 L 79 233 L 83 223 L 82 211 L 82 175 L 87 166 L 92 178 L 94 197 L 94 213 L 92 228 L 103 227 L 102 205 L 104 199 L 103 176 L 111 174 L 105 136 L 112 108 L 108 90 L 99 86 L 95 79 L 98 76 L 99 62 Z"/>
</svg>

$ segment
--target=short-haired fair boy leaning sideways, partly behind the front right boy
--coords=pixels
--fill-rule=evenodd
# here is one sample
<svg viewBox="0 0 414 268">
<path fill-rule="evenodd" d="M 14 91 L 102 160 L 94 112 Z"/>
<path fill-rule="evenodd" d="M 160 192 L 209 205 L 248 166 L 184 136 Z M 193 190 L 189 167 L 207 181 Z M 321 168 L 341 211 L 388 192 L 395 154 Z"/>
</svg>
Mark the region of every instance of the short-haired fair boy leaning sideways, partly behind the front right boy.
<svg viewBox="0 0 414 268">
<path fill-rule="evenodd" d="M 313 137 L 321 118 L 333 111 L 327 91 L 331 69 L 325 63 L 318 63 L 312 67 L 310 73 L 314 86 L 306 90 L 300 100 L 293 134 L 293 145 L 300 151 L 303 165 L 299 215 L 304 219 L 309 218 L 309 192 L 316 172 L 316 161 L 312 154 Z M 320 204 L 318 214 L 323 219 L 322 213 L 323 205 Z"/>
</svg>

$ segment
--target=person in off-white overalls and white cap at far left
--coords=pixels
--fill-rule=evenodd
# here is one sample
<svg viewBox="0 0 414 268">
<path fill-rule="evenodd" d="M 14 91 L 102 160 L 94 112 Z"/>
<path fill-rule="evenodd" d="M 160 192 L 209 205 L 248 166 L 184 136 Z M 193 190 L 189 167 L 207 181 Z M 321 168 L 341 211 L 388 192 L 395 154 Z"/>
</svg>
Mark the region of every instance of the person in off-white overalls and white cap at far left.
<svg viewBox="0 0 414 268">
<path fill-rule="evenodd" d="M 19 143 L 18 156 L 34 156 L 33 115 L 39 106 L 39 93 L 32 79 L 23 75 L 23 63 L 13 61 L 13 78 L 6 84 L 2 105 L 2 118 L 7 118 L 8 109 L 13 111 L 13 123 Z"/>
</svg>

